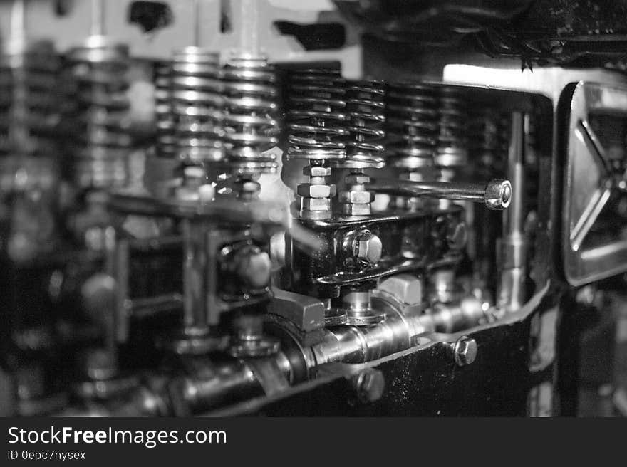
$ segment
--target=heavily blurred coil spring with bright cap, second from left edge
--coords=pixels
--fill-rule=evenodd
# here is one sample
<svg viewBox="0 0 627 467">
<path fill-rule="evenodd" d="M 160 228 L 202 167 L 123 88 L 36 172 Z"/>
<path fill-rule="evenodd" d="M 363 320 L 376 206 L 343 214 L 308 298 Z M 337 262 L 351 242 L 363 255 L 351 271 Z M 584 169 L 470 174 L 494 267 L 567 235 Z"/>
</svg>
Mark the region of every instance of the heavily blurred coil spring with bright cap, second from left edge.
<svg viewBox="0 0 627 467">
<path fill-rule="evenodd" d="M 128 47 L 90 36 L 66 56 L 68 142 L 73 178 L 82 188 L 112 188 L 128 177 Z"/>
</svg>

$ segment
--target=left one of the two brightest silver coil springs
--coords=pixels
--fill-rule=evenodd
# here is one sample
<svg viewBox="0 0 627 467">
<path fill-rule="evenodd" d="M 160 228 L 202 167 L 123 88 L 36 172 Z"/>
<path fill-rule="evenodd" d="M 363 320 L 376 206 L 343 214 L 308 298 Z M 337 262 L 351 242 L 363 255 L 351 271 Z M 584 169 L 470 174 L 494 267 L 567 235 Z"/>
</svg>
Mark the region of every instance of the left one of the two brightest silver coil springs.
<svg viewBox="0 0 627 467">
<path fill-rule="evenodd" d="M 220 74 L 217 53 L 186 47 L 174 54 L 171 75 L 171 118 L 175 127 L 172 149 L 184 162 L 202 164 L 224 159 L 224 98 Z"/>
</svg>

